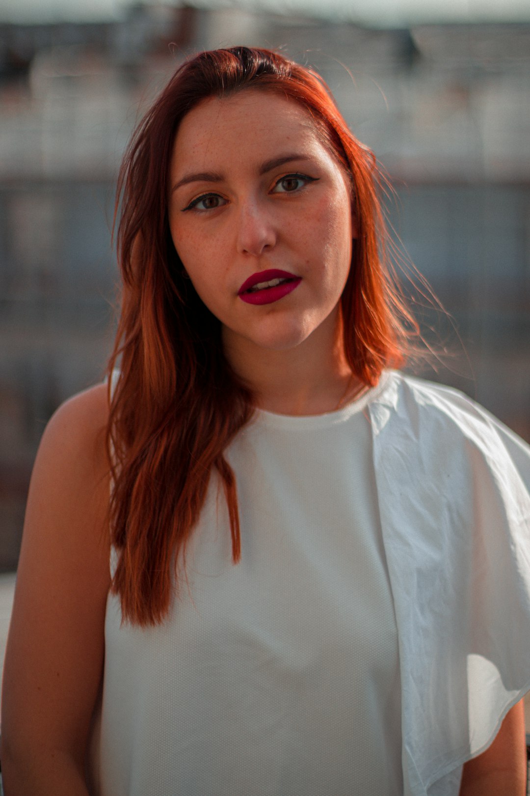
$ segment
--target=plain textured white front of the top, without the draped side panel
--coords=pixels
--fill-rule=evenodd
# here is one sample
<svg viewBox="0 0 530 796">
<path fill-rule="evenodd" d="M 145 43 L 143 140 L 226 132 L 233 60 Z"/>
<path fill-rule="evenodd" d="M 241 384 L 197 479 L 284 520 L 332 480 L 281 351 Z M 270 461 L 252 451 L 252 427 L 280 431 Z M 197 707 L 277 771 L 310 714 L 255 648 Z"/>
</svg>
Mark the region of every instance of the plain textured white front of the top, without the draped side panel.
<svg viewBox="0 0 530 796">
<path fill-rule="evenodd" d="M 259 412 L 226 451 L 163 626 L 106 611 L 97 796 L 401 796 L 397 626 L 366 406 Z"/>
</svg>

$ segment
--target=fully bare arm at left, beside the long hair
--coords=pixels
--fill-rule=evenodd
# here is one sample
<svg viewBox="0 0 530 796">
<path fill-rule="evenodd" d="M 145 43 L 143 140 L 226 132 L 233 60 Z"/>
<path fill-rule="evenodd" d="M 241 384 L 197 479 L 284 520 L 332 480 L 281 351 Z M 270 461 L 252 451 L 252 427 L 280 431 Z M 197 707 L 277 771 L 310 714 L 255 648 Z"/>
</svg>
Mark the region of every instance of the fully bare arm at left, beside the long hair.
<svg viewBox="0 0 530 796">
<path fill-rule="evenodd" d="M 106 387 L 52 417 L 29 487 L 2 686 L 6 796 L 87 796 L 110 586 Z"/>
</svg>

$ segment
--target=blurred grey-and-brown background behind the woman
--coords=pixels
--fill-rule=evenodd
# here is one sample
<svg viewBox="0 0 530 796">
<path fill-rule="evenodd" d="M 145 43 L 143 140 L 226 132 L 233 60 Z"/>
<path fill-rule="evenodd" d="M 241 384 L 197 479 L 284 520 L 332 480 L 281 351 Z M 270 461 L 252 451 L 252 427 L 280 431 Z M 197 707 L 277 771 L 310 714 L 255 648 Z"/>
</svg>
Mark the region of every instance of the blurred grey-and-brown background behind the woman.
<svg viewBox="0 0 530 796">
<path fill-rule="evenodd" d="M 330 84 L 451 314 L 454 384 L 530 440 L 530 5 L 519 0 L 0 0 L 0 572 L 58 404 L 114 331 L 114 181 L 149 101 L 199 49 L 279 47 Z"/>
</svg>

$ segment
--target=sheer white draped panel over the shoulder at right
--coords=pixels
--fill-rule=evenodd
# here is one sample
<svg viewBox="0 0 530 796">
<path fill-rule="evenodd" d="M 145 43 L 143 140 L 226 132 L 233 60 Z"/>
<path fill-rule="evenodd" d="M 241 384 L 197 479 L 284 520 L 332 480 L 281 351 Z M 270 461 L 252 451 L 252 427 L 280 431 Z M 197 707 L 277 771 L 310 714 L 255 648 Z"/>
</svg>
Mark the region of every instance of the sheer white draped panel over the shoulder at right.
<svg viewBox="0 0 530 796">
<path fill-rule="evenodd" d="M 404 796 L 452 796 L 530 689 L 530 449 L 461 393 L 399 373 L 369 417 Z"/>
</svg>

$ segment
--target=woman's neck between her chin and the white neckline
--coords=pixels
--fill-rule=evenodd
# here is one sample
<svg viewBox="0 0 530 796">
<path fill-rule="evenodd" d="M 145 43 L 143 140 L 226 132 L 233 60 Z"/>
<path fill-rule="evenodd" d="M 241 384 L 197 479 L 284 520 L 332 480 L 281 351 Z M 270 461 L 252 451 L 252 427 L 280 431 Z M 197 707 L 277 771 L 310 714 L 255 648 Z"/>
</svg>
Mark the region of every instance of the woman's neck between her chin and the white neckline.
<svg viewBox="0 0 530 796">
<path fill-rule="evenodd" d="M 333 412 L 354 396 L 361 383 L 352 376 L 342 344 L 342 322 L 331 319 L 295 348 L 263 349 L 242 338 L 223 338 L 238 376 L 257 396 L 257 406 L 281 415 Z"/>
</svg>

